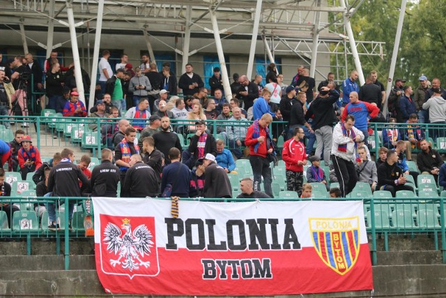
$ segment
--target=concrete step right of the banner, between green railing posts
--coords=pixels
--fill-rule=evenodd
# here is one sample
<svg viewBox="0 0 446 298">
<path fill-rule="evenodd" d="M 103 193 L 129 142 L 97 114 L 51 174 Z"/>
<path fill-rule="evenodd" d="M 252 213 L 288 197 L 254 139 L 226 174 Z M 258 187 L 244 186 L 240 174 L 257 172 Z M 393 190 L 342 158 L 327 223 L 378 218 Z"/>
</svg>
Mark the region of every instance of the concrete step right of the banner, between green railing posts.
<svg viewBox="0 0 446 298">
<path fill-rule="evenodd" d="M 436 265 L 443 262 L 441 251 L 378 251 L 378 265 Z"/>
</svg>

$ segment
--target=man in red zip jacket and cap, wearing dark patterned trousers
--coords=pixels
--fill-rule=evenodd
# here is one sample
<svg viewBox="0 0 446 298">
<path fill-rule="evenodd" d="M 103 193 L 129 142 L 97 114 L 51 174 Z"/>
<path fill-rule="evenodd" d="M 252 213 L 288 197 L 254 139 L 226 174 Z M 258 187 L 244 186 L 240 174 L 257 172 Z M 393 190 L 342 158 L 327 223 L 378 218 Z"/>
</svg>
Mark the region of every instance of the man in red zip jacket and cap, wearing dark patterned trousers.
<svg viewBox="0 0 446 298">
<path fill-rule="evenodd" d="M 282 160 L 286 168 L 286 189 L 296 191 L 299 197 L 302 195 L 304 165 L 307 164 L 305 146 L 301 142 L 304 136 L 304 130 L 300 126 L 294 128 L 293 137 L 284 143 L 282 150 Z"/>
</svg>

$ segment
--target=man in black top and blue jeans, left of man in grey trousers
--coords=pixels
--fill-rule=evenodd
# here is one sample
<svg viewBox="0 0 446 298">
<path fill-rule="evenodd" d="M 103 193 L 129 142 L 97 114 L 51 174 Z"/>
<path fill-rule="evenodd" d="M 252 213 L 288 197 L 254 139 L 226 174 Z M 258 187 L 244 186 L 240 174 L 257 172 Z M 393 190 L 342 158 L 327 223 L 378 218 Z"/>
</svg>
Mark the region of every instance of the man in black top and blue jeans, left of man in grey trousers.
<svg viewBox="0 0 446 298">
<path fill-rule="evenodd" d="M 314 131 L 312 126 L 305 120 L 305 112 L 307 110 L 305 106 L 305 102 L 307 100 L 307 94 L 304 92 L 300 92 L 298 94 L 298 101 L 291 107 L 291 120 L 290 120 L 290 128 L 289 128 L 289 137 L 291 137 L 291 133 L 293 133 L 296 127 L 300 127 L 305 132 L 305 137 L 308 139 L 307 143 L 307 155 L 312 154 L 314 142 L 316 141 L 316 135 L 314 135 Z"/>
</svg>

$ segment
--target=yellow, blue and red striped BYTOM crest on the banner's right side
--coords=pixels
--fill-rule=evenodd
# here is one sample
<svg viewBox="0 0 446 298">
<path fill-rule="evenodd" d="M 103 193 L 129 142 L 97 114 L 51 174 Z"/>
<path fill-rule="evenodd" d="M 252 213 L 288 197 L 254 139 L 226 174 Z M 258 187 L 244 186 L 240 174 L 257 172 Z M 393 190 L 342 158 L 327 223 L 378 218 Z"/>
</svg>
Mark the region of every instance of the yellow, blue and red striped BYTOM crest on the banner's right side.
<svg viewBox="0 0 446 298">
<path fill-rule="evenodd" d="M 359 217 L 309 218 L 314 248 L 325 265 L 340 275 L 355 265 L 360 253 Z"/>
</svg>

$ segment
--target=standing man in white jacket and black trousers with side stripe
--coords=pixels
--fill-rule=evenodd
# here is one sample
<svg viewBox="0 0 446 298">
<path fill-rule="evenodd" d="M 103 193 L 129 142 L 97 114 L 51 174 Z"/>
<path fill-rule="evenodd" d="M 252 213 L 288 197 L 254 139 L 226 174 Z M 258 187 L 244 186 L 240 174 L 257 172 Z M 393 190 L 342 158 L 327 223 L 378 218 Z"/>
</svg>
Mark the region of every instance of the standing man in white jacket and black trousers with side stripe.
<svg viewBox="0 0 446 298">
<path fill-rule="evenodd" d="M 354 125 L 355 117 L 350 114 L 345 122 L 336 124 L 333 129 L 332 162 L 343 198 L 355 188 L 357 181 L 353 163 L 355 142 L 364 140 L 364 135 Z"/>
</svg>

